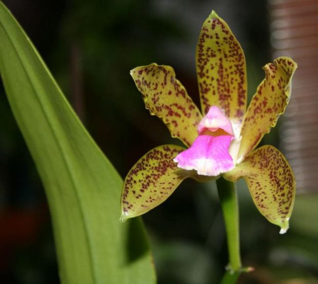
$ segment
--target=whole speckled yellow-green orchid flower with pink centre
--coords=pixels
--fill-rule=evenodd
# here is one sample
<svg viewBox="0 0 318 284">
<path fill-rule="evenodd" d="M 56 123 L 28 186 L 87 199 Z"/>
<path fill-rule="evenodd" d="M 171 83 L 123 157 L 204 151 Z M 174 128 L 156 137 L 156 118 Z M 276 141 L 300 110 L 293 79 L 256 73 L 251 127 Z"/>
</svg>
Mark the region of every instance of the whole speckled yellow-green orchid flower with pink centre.
<svg viewBox="0 0 318 284">
<path fill-rule="evenodd" d="M 124 182 L 122 221 L 160 205 L 185 178 L 210 181 L 223 175 L 229 181 L 243 177 L 257 209 L 286 232 L 294 175 L 276 148 L 254 149 L 285 111 L 296 64 L 280 57 L 263 69 L 266 77 L 246 110 L 243 51 L 228 25 L 212 11 L 196 49 L 202 114 L 171 67 L 151 64 L 131 71 L 146 108 L 189 148 L 159 146 L 133 166 Z"/>
</svg>

